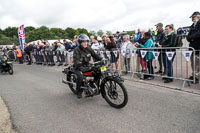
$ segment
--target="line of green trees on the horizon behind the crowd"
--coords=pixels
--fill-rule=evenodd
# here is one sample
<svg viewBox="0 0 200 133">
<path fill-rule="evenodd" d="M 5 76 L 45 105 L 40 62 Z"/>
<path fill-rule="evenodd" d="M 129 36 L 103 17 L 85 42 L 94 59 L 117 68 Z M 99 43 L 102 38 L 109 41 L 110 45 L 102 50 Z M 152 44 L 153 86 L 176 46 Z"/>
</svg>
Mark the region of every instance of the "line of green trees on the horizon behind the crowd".
<svg viewBox="0 0 200 133">
<path fill-rule="evenodd" d="M 0 45 L 8 45 L 8 44 L 19 44 L 18 39 L 18 27 L 7 27 L 6 29 L 0 29 Z M 133 32 L 127 32 L 128 34 L 132 34 Z M 84 28 L 73 29 L 71 27 L 67 27 L 66 29 L 61 28 L 48 28 L 46 26 L 41 26 L 39 28 L 35 28 L 33 26 L 25 27 L 26 34 L 26 43 L 31 41 L 36 41 L 40 39 L 45 40 L 57 40 L 57 39 L 70 39 L 73 40 L 75 35 L 86 34 L 88 36 L 100 36 L 104 35 L 102 30 L 98 32 L 90 31 Z M 107 35 L 112 35 L 111 31 L 106 31 Z"/>
</svg>

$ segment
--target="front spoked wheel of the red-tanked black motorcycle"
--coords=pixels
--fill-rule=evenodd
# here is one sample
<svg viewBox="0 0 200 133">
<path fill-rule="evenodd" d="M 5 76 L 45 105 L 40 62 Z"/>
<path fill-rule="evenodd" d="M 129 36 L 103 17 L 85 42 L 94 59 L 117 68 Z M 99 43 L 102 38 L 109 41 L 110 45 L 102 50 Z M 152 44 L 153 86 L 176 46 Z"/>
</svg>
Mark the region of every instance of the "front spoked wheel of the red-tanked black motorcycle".
<svg viewBox="0 0 200 133">
<path fill-rule="evenodd" d="M 128 94 L 123 83 L 114 79 L 108 79 L 105 81 L 102 91 L 103 97 L 110 106 L 118 109 L 126 106 Z"/>
</svg>

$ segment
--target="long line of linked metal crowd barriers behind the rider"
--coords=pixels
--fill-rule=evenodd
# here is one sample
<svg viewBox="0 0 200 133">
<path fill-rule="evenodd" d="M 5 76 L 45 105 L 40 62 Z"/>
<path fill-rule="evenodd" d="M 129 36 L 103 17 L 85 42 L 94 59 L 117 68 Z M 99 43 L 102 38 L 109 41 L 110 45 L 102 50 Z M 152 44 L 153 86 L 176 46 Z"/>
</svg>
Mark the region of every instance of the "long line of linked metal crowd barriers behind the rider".
<svg viewBox="0 0 200 133">
<path fill-rule="evenodd" d="M 195 57 L 196 54 L 192 47 L 169 47 L 169 48 L 132 48 L 132 49 L 111 49 L 111 50 L 95 50 L 95 52 L 103 58 L 108 59 L 107 64 L 111 67 L 113 72 L 118 72 L 120 74 L 129 73 L 131 74 L 130 80 L 136 77 L 144 77 L 145 75 L 169 79 L 182 80 L 183 84 L 181 89 L 184 88 L 185 83 L 193 82 L 195 83 L 195 73 L 196 77 L 200 81 L 200 55 Z M 154 72 L 152 74 L 148 73 L 147 55 L 152 53 L 154 59 L 152 60 L 152 67 Z M 73 51 L 34 51 L 32 57 L 35 58 L 35 62 L 39 64 L 73 64 Z M 167 76 L 166 73 L 157 74 L 155 73 L 159 69 L 159 56 L 161 56 L 162 65 L 164 60 L 171 61 L 173 76 Z M 165 56 L 165 58 L 163 57 Z M 166 68 L 170 67 L 169 62 L 165 63 Z M 191 62 L 194 62 L 191 66 Z M 143 64 L 144 63 L 144 64 Z M 199 64 L 198 66 L 196 64 Z M 197 67 L 198 68 L 197 68 Z M 171 70 L 172 70 L 171 69 Z M 193 71 L 192 71 L 193 70 Z M 167 72 L 162 68 L 162 72 Z M 190 76 L 193 78 L 190 79 Z M 199 82 L 200 83 L 200 82 Z"/>
</svg>

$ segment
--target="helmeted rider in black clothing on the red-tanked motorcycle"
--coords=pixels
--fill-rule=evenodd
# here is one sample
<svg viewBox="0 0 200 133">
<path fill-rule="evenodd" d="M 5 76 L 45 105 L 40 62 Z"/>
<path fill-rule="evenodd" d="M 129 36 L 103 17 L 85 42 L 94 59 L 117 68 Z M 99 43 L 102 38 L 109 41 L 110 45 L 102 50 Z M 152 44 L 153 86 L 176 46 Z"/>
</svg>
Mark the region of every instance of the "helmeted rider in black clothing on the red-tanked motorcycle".
<svg viewBox="0 0 200 133">
<path fill-rule="evenodd" d="M 89 61 L 91 59 L 91 56 L 97 60 L 100 61 L 102 58 L 97 55 L 94 50 L 90 47 L 88 47 L 89 37 L 85 34 L 81 34 L 78 36 L 78 43 L 80 44 L 77 48 L 74 50 L 73 54 L 73 61 L 74 61 L 74 73 L 77 76 L 77 97 L 82 98 L 82 92 L 83 89 L 81 88 L 81 84 L 83 81 L 83 73 L 90 70 L 89 68 Z"/>
</svg>

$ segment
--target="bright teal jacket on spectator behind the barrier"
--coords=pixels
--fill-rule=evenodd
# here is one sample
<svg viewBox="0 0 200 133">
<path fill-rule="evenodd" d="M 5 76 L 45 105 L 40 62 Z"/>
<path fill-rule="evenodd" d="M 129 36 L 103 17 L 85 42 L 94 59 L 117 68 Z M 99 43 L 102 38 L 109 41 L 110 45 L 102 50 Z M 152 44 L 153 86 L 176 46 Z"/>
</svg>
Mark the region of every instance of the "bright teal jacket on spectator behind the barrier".
<svg viewBox="0 0 200 133">
<path fill-rule="evenodd" d="M 150 38 L 149 40 L 147 40 L 144 45 L 141 45 L 141 48 L 154 48 L 153 39 Z M 153 53 L 150 52 L 150 51 L 153 51 L 153 49 L 148 49 L 147 51 L 148 51 L 146 55 L 147 60 L 154 59 Z"/>
</svg>

